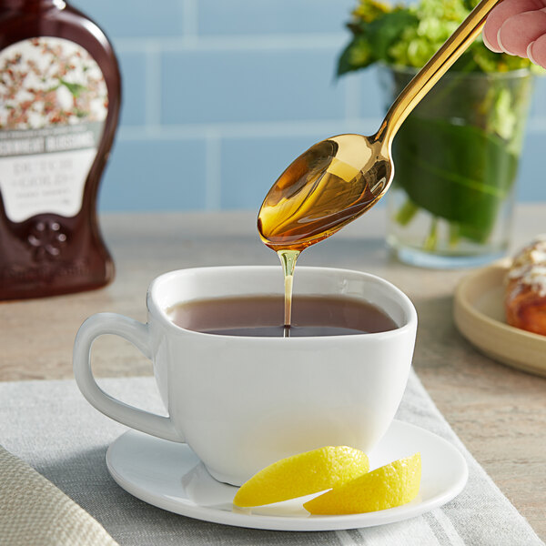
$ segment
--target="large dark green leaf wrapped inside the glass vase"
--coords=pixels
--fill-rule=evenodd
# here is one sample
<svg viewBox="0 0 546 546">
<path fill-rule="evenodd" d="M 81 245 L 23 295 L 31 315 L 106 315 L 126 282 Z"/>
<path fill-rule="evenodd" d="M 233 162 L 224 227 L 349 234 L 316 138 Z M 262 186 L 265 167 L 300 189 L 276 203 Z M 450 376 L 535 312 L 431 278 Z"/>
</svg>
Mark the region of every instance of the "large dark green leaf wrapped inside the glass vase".
<svg viewBox="0 0 546 546">
<path fill-rule="evenodd" d="M 460 235 L 484 241 L 511 192 L 518 157 L 476 126 L 412 114 L 393 146 L 395 183 L 434 217 L 460 225 Z"/>
</svg>

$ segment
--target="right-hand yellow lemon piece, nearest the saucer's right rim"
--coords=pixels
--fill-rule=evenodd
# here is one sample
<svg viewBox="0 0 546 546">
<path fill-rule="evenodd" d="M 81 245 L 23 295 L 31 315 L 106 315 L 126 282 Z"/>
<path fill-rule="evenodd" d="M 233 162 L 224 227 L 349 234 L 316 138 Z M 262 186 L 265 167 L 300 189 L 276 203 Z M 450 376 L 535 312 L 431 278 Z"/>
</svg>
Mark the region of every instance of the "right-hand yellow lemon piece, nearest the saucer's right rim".
<svg viewBox="0 0 546 546">
<path fill-rule="evenodd" d="M 306 502 L 303 507 L 316 515 L 356 514 L 394 508 L 417 496 L 420 474 L 420 453 L 415 453 L 334 487 Z"/>
</svg>

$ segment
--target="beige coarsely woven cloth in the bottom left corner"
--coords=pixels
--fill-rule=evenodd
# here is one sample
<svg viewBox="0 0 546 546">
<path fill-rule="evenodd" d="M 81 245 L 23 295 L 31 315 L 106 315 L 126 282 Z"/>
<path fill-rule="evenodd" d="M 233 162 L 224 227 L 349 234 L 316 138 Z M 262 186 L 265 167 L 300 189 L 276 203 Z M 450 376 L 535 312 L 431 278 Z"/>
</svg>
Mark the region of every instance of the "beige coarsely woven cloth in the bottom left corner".
<svg viewBox="0 0 546 546">
<path fill-rule="evenodd" d="M 51 481 L 0 447 L 0 543 L 116 546 L 105 528 Z"/>
</svg>

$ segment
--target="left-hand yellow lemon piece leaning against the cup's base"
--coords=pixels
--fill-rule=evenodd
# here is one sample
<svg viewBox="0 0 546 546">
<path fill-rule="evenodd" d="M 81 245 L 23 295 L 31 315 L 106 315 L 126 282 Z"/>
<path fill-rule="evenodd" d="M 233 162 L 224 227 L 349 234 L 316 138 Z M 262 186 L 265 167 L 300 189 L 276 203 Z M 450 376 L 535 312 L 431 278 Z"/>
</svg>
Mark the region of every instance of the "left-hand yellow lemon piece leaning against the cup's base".
<svg viewBox="0 0 546 546">
<path fill-rule="evenodd" d="M 278 460 L 239 488 L 233 503 L 241 508 L 287 501 L 328 490 L 369 471 L 366 453 L 327 446 Z"/>
</svg>

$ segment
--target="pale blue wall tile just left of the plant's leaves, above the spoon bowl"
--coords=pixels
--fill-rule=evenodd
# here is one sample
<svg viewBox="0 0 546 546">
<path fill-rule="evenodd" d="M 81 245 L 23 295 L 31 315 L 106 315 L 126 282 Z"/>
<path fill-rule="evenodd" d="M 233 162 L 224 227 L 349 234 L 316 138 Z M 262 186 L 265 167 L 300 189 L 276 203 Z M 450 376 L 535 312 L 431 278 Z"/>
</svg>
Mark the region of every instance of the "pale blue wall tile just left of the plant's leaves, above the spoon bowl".
<svg viewBox="0 0 546 546">
<path fill-rule="evenodd" d="M 331 51 L 167 52 L 161 59 L 163 124 L 339 119 L 344 82 Z"/>
</svg>

